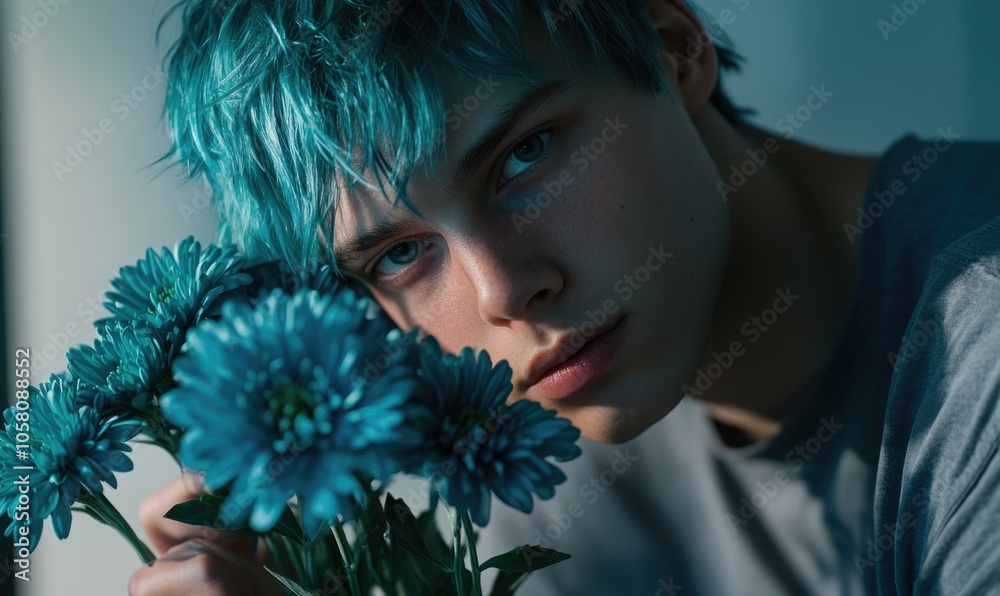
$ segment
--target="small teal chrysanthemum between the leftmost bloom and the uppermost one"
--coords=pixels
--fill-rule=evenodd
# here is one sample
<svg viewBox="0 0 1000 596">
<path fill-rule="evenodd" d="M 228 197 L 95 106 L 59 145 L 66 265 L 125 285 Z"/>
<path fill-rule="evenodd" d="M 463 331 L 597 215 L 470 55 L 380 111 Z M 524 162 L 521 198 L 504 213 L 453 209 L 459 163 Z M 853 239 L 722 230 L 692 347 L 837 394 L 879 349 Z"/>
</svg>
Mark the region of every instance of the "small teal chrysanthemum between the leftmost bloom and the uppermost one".
<svg viewBox="0 0 1000 596">
<path fill-rule="evenodd" d="M 163 344 L 147 326 L 116 323 L 93 346 L 66 354 L 74 377 L 106 396 L 104 415 L 142 410 L 167 372 Z"/>
</svg>

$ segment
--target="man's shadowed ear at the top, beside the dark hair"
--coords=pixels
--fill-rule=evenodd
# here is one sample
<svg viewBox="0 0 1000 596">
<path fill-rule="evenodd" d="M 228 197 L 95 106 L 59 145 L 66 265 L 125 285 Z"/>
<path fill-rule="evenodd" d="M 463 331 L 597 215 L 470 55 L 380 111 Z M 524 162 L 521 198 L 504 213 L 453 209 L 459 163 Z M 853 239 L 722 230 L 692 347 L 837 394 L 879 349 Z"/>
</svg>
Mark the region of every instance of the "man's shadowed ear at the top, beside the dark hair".
<svg viewBox="0 0 1000 596">
<path fill-rule="evenodd" d="M 646 14 L 662 43 L 659 58 L 664 77 L 688 112 L 700 110 L 719 76 L 719 60 L 708 32 L 684 0 L 650 0 Z"/>
</svg>

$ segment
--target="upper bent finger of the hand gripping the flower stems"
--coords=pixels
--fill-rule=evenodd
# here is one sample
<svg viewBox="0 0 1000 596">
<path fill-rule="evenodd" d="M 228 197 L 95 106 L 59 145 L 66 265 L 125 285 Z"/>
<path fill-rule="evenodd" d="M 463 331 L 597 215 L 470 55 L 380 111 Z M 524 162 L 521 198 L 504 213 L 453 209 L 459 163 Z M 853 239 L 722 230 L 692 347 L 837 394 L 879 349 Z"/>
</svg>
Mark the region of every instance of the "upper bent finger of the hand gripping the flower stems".
<svg viewBox="0 0 1000 596">
<path fill-rule="evenodd" d="M 191 472 L 185 472 L 139 505 L 139 521 L 156 552 L 164 553 L 189 539 L 202 538 L 226 543 L 244 556 L 253 556 L 252 540 L 244 532 L 195 526 L 163 517 L 174 505 L 197 498 L 204 492 L 199 477 Z"/>
</svg>

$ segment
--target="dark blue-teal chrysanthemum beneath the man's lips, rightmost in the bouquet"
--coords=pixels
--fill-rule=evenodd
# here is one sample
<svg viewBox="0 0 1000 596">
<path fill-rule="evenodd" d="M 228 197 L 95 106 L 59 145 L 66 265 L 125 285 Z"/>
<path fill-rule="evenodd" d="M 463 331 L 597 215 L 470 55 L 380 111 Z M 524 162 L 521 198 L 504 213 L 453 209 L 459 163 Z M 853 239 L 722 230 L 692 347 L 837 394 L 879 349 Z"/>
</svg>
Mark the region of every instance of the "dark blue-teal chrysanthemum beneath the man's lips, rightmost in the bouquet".
<svg viewBox="0 0 1000 596">
<path fill-rule="evenodd" d="M 505 360 L 463 348 L 442 354 L 433 337 L 420 342 L 421 371 L 429 390 L 418 393 L 410 424 L 423 434 L 408 469 L 431 479 L 439 494 L 479 526 L 490 516 L 490 493 L 520 511 L 532 494 L 549 499 L 566 475 L 547 461 L 580 455 L 579 429 L 533 401 L 506 404 L 512 385 Z"/>
</svg>

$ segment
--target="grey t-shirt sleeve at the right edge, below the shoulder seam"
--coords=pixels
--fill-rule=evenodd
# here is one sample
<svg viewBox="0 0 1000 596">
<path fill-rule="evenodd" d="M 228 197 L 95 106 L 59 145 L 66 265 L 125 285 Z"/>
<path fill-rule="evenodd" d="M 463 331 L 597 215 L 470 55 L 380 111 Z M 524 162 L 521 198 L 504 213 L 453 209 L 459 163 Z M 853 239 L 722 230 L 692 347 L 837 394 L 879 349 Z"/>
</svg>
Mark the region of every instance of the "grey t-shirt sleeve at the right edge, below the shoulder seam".
<svg viewBox="0 0 1000 596">
<path fill-rule="evenodd" d="M 934 258 L 888 360 L 879 593 L 1000 595 L 1000 218 Z"/>
</svg>

